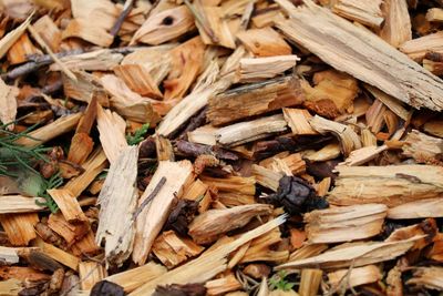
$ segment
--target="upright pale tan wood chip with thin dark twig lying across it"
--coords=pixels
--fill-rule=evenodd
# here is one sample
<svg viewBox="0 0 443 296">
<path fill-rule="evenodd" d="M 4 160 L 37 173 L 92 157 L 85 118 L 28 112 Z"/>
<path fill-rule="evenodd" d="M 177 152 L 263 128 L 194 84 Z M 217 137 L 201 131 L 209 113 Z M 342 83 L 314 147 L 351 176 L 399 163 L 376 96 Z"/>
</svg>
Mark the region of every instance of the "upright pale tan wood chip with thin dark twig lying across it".
<svg viewBox="0 0 443 296">
<path fill-rule="evenodd" d="M 181 197 L 183 187 L 193 181 L 193 165 L 189 161 L 169 162 L 162 161 L 155 171 L 150 185 L 146 187 L 138 201 L 141 206 L 145 200 L 152 195 L 161 180 L 166 182 L 150 197 L 147 206 L 136 217 L 136 234 L 134 242 L 133 261 L 140 265 L 144 264 L 155 237 L 165 224 L 174 198 Z"/>
</svg>

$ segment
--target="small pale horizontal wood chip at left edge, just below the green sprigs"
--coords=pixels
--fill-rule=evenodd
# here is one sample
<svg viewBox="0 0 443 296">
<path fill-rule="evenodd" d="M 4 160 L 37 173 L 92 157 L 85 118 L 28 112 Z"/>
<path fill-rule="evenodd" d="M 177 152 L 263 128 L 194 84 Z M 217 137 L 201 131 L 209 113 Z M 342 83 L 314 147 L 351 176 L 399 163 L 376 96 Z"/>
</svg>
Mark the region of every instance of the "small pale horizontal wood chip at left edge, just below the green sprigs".
<svg viewBox="0 0 443 296">
<path fill-rule="evenodd" d="M 42 197 L 28 197 L 22 195 L 0 196 L 0 214 L 30 213 L 44 210 L 37 203 L 43 203 Z"/>
</svg>

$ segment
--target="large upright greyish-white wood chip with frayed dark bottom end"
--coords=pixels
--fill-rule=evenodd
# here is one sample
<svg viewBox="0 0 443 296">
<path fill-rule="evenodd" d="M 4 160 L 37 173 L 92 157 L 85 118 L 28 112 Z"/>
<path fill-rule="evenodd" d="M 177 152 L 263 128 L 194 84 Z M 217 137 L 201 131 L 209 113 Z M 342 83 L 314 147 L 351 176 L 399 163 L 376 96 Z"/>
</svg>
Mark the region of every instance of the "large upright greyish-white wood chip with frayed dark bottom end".
<svg viewBox="0 0 443 296">
<path fill-rule="evenodd" d="M 101 207 L 95 241 L 97 245 L 105 241 L 105 257 L 112 265 L 120 266 L 132 252 L 135 235 L 133 214 L 138 198 L 137 159 L 137 146 L 122 150 L 111 163 L 97 200 Z"/>
</svg>

